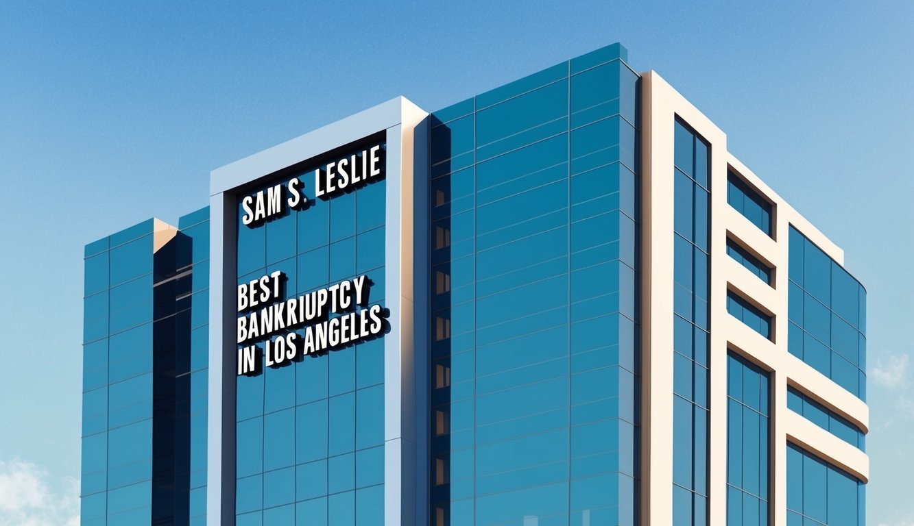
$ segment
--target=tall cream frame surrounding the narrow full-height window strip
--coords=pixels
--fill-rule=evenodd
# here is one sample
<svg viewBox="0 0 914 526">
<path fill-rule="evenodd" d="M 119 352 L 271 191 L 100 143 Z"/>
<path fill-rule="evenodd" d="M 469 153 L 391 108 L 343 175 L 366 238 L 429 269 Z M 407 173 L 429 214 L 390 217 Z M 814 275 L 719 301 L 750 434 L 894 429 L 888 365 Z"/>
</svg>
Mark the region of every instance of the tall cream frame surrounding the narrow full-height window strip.
<svg viewBox="0 0 914 526">
<path fill-rule="evenodd" d="M 727 205 L 727 136 L 654 71 L 642 75 L 642 518 L 673 521 L 673 243 L 675 118 L 711 149 L 710 409 L 708 509 L 724 524 L 727 506 L 727 341 L 715 325 L 726 316 L 727 282 L 715 273 L 725 257 L 727 231 L 719 217 Z"/>
</svg>

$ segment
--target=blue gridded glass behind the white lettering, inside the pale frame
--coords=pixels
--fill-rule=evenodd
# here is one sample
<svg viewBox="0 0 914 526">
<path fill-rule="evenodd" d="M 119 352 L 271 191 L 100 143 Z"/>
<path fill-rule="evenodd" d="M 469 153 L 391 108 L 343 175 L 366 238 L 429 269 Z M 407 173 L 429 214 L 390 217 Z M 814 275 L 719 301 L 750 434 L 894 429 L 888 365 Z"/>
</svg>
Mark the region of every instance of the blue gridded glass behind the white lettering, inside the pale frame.
<svg viewBox="0 0 914 526">
<path fill-rule="evenodd" d="M 339 157 L 360 151 L 350 150 Z M 316 167 L 294 174 L 314 180 Z M 379 179 L 329 199 L 310 195 L 307 205 L 253 227 L 242 224 L 239 199 L 239 285 L 280 270 L 282 299 L 291 299 L 366 275 L 370 301 L 383 305 L 386 188 Z M 259 360 L 261 373 L 239 375 L 236 385 L 236 524 L 383 524 L 384 341 L 300 352 L 277 367 Z"/>
</svg>

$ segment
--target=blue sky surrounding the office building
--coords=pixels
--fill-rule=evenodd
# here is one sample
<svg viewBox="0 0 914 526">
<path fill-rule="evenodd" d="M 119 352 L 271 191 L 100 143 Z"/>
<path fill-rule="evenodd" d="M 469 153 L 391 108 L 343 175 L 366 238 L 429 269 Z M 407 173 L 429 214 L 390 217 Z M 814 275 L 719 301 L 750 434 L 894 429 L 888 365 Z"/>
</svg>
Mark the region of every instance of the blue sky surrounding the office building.
<svg viewBox="0 0 914 526">
<path fill-rule="evenodd" d="M 77 506 L 86 243 L 174 222 L 210 170 L 357 110 L 437 110 L 616 41 L 845 248 L 869 293 L 869 524 L 914 524 L 914 3 L 414 4 L 0 3 L 0 525 Z"/>
</svg>

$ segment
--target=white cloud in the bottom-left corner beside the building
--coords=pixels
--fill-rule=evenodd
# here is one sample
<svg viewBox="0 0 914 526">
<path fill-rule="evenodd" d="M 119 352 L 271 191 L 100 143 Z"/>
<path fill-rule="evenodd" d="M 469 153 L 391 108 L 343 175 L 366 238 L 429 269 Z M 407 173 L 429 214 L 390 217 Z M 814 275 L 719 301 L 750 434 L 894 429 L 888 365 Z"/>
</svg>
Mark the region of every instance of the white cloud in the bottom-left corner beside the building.
<svg viewBox="0 0 914 526">
<path fill-rule="evenodd" d="M 79 526 L 80 482 L 30 462 L 0 462 L 0 526 Z"/>
</svg>

